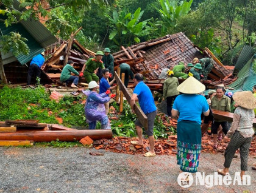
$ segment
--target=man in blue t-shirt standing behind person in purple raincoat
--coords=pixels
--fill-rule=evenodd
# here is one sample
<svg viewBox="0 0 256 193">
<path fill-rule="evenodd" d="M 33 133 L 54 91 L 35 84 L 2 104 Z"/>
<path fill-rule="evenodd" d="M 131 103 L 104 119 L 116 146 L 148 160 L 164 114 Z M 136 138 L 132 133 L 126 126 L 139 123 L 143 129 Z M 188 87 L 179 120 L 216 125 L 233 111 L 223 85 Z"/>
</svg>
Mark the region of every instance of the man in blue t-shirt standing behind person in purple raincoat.
<svg viewBox="0 0 256 193">
<path fill-rule="evenodd" d="M 109 70 L 103 69 L 102 78 L 101 78 L 101 81 L 99 81 L 99 94 L 104 93 L 107 90 L 112 90 L 116 88 L 116 86 L 110 87 L 110 85 L 114 83 L 115 78 L 110 83 L 108 83 L 108 77 L 109 77 Z M 108 114 L 109 102 L 105 103 L 104 105 L 105 105 L 106 114 Z"/>
</svg>

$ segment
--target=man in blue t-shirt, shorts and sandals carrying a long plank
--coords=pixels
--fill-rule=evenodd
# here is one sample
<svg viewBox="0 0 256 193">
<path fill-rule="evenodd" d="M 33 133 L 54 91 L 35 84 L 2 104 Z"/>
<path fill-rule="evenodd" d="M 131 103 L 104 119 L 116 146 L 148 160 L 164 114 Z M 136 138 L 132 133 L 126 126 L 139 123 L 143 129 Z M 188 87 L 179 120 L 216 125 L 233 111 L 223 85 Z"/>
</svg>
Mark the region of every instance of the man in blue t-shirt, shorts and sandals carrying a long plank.
<svg viewBox="0 0 256 193">
<path fill-rule="evenodd" d="M 130 107 L 132 112 L 134 113 L 134 104 L 135 101 L 138 101 L 141 107 L 141 110 L 148 117 L 148 130 L 146 130 L 146 134 L 149 137 L 150 151 L 144 154 L 145 157 L 155 156 L 155 139 L 153 135 L 153 127 L 155 123 L 155 117 L 157 115 L 157 107 L 155 107 L 155 101 L 152 96 L 151 90 L 149 87 L 143 82 L 143 75 L 137 73 L 134 76 L 134 84 L 135 89 L 133 90 L 132 98 L 130 100 Z M 142 127 L 143 125 L 139 120 L 135 121 L 135 126 L 138 134 L 138 141 L 130 141 L 132 144 L 137 144 L 143 146 L 142 140 Z"/>
</svg>

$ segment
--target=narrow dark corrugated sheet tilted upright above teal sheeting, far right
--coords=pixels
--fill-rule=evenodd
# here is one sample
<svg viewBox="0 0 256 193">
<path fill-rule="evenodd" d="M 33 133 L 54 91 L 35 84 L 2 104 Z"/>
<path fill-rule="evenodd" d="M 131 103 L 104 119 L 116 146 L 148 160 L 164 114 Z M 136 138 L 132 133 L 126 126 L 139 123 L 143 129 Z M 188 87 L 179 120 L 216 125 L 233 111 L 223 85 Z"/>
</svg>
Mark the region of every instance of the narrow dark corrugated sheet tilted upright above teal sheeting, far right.
<svg viewBox="0 0 256 193">
<path fill-rule="evenodd" d="M 236 70 L 243 69 L 244 65 L 249 61 L 249 59 L 252 58 L 254 55 L 254 48 L 251 46 L 244 45 L 242 52 L 240 53 L 240 56 L 235 64 Z"/>
</svg>

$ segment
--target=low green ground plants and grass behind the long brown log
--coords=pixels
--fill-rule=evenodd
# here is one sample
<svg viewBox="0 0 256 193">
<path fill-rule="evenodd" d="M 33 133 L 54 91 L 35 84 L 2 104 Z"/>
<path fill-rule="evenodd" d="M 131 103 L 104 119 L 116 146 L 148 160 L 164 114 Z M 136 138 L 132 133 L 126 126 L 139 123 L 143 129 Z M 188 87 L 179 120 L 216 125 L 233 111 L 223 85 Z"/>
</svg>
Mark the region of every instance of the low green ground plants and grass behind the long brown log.
<svg viewBox="0 0 256 193">
<path fill-rule="evenodd" d="M 57 103 L 50 100 L 49 93 L 44 87 L 38 86 L 35 89 L 14 89 L 7 86 L 0 90 L 0 121 L 5 120 L 39 120 L 40 123 L 58 123 L 55 118 L 63 118 L 64 126 L 83 126 L 88 127 L 86 123 L 84 104 L 79 101 L 85 98 L 65 96 Z M 119 109 L 118 104 L 113 103 L 115 109 Z M 112 130 L 115 135 L 135 137 L 135 120 L 137 116 L 131 113 L 129 104 L 124 102 L 124 111 L 121 115 L 117 113 L 109 115 Z M 118 117 L 112 120 L 111 117 Z M 100 129 L 98 123 L 97 129 Z M 155 137 L 167 137 L 166 126 L 163 125 L 160 117 L 155 120 Z M 172 127 L 168 127 L 169 132 L 175 132 Z"/>
</svg>

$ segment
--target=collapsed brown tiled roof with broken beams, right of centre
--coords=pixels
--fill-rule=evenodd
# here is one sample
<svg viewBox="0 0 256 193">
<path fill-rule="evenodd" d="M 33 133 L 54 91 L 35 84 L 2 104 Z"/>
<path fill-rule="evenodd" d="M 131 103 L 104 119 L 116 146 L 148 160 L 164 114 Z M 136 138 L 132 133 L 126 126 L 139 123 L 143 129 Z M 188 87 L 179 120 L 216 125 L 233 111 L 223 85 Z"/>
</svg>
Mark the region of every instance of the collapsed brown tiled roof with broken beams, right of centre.
<svg viewBox="0 0 256 193">
<path fill-rule="evenodd" d="M 223 83 L 221 80 L 224 78 L 226 83 L 232 81 L 229 78 L 232 76 L 231 70 L 226 69 L 209 49 L 202 50 L 195 46 L 182 32 L 121 48 L 122 50 L 113 54 L 115 64 L 127 63 L 127 61 L 129 63 L 137 59 L 134 63 L 129 63 L 131 69 L 146 76 L 146 83 L 152 90 L 162 89 L 163 80 L 157 80 L 162 69 L 168 65 L 174 67 L 180 61 L 185 64 L 191 63 L 194 58 L 207 57 L 214 61 L 214 67 L 208 74 L 210 80 L 204 81 L 205 86 L 212 88 L 216 84 Z M 143 58 L 143 61 L 140 58 Z"/>
</svg>

